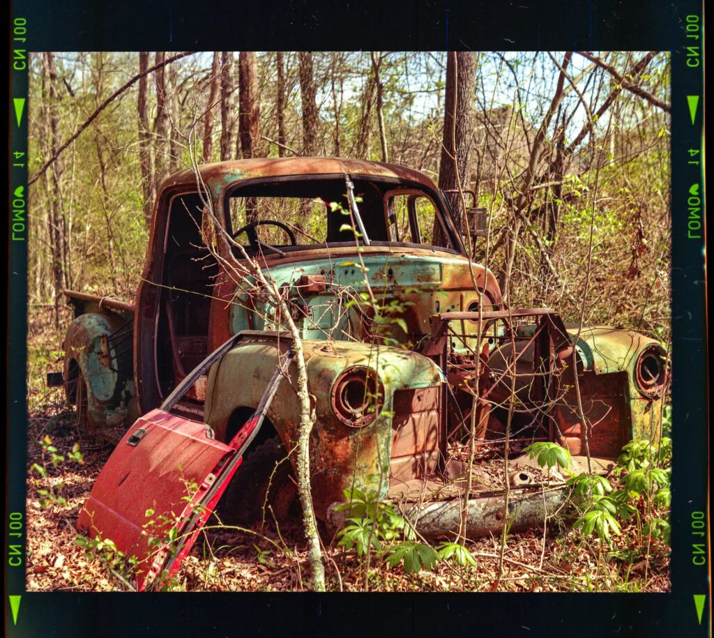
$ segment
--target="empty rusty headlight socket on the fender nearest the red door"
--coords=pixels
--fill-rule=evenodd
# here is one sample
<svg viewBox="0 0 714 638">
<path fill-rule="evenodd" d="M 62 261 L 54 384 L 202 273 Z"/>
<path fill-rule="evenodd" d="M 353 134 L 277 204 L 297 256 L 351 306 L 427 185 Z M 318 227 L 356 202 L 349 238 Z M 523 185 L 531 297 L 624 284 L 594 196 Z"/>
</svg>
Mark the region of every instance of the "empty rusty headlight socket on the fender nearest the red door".
<svg viewBox="0 0 714 638">
<path fill-rule="evenodd" d="M 342 423 L 349 427 L 364 427 L 379 414 L 384 402 L 384 387 L 375 370 L 355 365 L 336 378 L 331 395 L 333 412 Z"/>
</svg>

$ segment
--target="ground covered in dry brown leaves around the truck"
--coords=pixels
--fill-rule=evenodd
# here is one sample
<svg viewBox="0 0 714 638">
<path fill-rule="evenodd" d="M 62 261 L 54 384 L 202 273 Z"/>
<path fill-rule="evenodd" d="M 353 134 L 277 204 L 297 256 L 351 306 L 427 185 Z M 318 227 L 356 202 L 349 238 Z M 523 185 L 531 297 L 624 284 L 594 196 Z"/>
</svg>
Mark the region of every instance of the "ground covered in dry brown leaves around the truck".
<svg viewBox="0 0 714 638">
<path fill-rule="evenodd" d="M 45 335 L 46 336 L 46 335 Z M 81 437 L 74 407 L 61 388 L 47 388 L 45 373 L 59 370 L 59 340 L 30 335 L 27 476 L 28 591 L 109 591 L 129 586 L 121 569 L 86 552 L 75 525 L 112 446 Z M 54 451 L 51 450 L 51 447 Z M 82 455 L 71 459 L 72 450 Z M 56 455 L 55 463 L 52 455 Z M 61 457 L 62 460 L 59 460 Z M 42 468 L 42 469 L 40 469 Z M 213 523 L 216 521 L 213 520 Z M 240 530 L 211 525 L 182 564 L 173 589 L 187 591 L 303 591 L 311 589 L 301 525 Z M 476 567 L 442 560 L 431 570 L 407 574 L 373 558 L 373 591 L 666 592 L 669 548 L 643 539 L 641 527 L 623 526 L 615 545 L 585 538 L 558 522 L 548 530 L 508 535 L 498 579 L 500 538 L 468 542 Z M 363 559 L 354 550 L 325 548 L 326 585 L 331 591 L 364 589 Z"/>
</svg>

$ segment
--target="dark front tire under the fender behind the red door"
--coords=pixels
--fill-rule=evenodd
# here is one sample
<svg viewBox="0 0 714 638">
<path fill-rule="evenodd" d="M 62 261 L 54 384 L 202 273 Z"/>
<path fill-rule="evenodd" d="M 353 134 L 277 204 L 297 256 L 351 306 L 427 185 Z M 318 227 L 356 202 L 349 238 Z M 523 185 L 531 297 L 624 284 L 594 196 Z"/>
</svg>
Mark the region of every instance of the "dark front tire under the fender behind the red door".
<svg viewBox="0 0 714 638">
<path fill-rule="evenodd" d="M 226 525 L 300 521 L 293 466 L 279 436 L 256 446 L 233 476 L 218 510 Z"/>
</svg>

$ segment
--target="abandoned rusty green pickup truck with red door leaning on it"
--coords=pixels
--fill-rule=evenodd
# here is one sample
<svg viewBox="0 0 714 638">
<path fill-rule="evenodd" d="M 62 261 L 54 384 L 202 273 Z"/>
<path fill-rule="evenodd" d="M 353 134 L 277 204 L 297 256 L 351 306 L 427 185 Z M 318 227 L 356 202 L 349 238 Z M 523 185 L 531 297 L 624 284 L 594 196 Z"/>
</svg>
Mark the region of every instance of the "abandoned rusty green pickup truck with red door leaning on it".
<svg viewBox="0 0 714 638">
<path fill-rule="evenodd" d="M 467 216 L 476 239 L 478 211 Z M 565 324 L 548 308 L 506 307 L 491 270 L 468 258 L 460 228 L 431 179 L 386 163 L 261 158 L 168 178 L 134 303 L 66 292 L 75 309 L 66 394 L 82 430 L 123 435 L 104 496 L 85 507 L 80 527 L 114 538 L 131 519 L 136 532 L 156 492 L 177 497 L 187 475 L 205 492 L 228 457 L 241 465 L 218 504 L 226 520 L 251 522 L 266 503 L 278 520 L 295 515 L 292 338 L 249 261 L 276 283 L 299 331 L 315 417 L 313 502 L 327 525 L 339 524 L 334 506 L 356 486 L 411 507 L 426 535 L 453 532 L 465 468 L 458 451 L 472 422 L 477 446 L 498 447 L 508 430 L 511 447 L 557 442 L 576 467 L 588 455 L 595 469 L 612 465 L 630 439 L 658 440 L 660 343 Z M 256 422 L 259 432 L 248 432 Z M 182 440 L 194 447 L 167 447 L 169 434 L 162 440 L 152 427 L 190 430 Z M 210 453 L 193 467 L 201 445 Z M 513 458 L 506 477 L 512 529 L 543 518 L 527 466 Z M 468 533 L 503 524 L 503 479 L 484 472 L 473 482 Z M 215 507 L 220 497 L 211 498 Z M 121 525 L 105 518 L 101 529 L 103 507 Z"/>
</svg>

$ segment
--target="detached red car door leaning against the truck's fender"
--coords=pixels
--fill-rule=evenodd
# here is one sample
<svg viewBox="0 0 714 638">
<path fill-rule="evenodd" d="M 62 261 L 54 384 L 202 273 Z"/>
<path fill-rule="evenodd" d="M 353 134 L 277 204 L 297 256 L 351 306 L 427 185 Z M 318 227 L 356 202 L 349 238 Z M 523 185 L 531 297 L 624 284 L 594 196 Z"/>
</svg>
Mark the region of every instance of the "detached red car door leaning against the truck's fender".
<svg viewBox="0 0 714 638">
<path fill-rule="evenodd" d="M 171 414 L 196 379 L 240 338 L 231 337 L 178 385 L 160 409 L 136 420 L 99 473 L 80 512 L 78 530 L 91 538 L 111 539 L 126 557 L 136 559 L 139 591 L 164 582 L 191 550 L 283 378 L 278 365 L 253 416 L 228 445 L 214 440 L 208 425 Z M 285 369 L 292 356 L 288 350 Z"/>
</svg>

